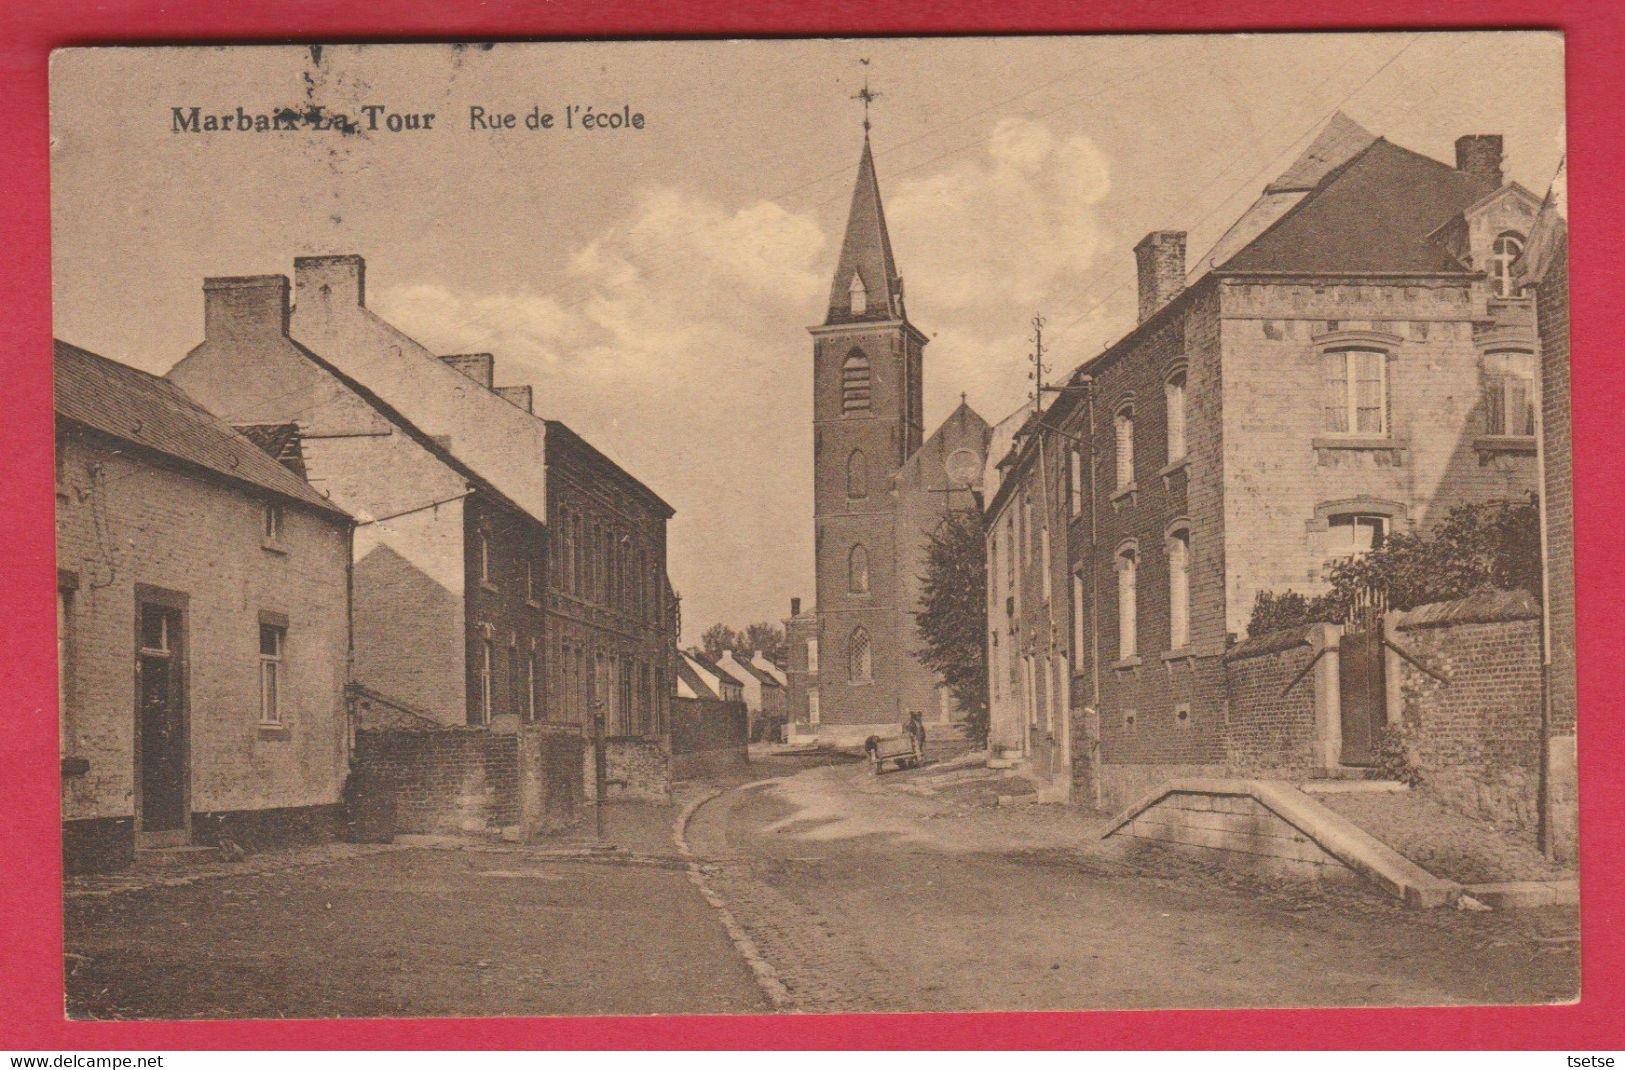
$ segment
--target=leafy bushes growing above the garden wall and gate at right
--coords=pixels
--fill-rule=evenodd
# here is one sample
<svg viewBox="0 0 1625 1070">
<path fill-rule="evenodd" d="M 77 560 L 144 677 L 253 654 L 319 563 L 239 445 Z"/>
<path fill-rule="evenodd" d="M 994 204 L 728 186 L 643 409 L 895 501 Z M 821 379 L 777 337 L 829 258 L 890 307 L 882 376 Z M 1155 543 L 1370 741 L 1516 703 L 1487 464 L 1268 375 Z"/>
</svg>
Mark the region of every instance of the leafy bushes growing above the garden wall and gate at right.
<svg viewBox="0 0 1625 1070">
<path fill-rule="evenodd" d="M 1360 592 L 1386 595 L 1393 610 L 1466 598 L 1485 587 L 1540 597 L 1540 509 L 1529 501 L 1456 506 L 1427 533 L 1393 533 L 1358 558 L 1339 561 L 1331 590 L 1308 598 L 1263 590 L 1253 602 L 1250 636 L 1313 621 L 1341 621 Z"/>
</svg>

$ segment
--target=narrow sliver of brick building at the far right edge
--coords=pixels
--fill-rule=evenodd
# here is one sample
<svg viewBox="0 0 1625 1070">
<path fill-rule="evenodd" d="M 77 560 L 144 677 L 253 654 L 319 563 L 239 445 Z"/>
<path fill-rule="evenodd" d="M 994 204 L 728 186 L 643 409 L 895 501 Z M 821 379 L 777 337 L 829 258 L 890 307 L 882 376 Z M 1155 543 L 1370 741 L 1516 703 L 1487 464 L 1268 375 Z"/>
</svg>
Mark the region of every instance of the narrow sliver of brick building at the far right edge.
<svg viewBox="0 0 1625 1070">
<path fill-rule="evenodd" d="M 1552 189 L 1514 265 L 1534 291 L 1540 335 L 1540 527 L 1545 551 L 1545 803 L 1542 846 L 1573 862 L 1580 802 L 1575 755 L 1575 467 L 1568 387 L 1568 174 Z"/>
</svg>

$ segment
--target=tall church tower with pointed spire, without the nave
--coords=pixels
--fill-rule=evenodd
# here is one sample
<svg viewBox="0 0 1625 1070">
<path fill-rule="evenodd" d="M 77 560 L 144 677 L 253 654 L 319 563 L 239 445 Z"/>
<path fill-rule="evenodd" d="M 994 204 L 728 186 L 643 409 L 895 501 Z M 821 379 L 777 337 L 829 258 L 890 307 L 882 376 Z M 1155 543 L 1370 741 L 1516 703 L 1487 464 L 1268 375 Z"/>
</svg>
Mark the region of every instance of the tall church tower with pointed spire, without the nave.
<svg viewBox="0 0 1625 1070">
<path fill-rule="evenodd" d="M 864 130 L 829 312 L 812 333 L 817 709 L 830 735 L 895 730 L 918 646 L 894 476 L 923 439 L 926 337 L 908 322 Z M 908 542 L 908 540 L 902 540 Z M 921 711 L 930 712 L 930 711 Z"/>
</svg>

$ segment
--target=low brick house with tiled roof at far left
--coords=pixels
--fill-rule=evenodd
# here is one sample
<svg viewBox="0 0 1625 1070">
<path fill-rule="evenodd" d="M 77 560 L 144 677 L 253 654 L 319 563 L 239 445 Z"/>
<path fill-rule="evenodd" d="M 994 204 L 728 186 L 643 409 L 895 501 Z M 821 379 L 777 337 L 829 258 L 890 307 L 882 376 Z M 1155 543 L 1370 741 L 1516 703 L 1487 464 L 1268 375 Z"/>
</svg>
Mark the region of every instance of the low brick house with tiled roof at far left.
<svg viewBox="0 0 1625 1070">
<path fill-rule="evenodd" d="M 174 384 L 62 341 L 55 410 L 67 867 L 323 831 L 349 515 Z"/>
</svg>

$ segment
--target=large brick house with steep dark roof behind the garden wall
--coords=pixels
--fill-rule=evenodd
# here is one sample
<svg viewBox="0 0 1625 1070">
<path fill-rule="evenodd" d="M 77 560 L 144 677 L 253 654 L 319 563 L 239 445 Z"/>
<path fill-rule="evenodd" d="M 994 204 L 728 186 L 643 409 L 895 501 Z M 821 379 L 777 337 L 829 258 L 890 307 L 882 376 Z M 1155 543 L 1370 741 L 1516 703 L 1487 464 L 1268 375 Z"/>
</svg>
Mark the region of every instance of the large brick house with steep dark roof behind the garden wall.
<svg viewBox="0 0 1625 1070">
<path fill-rule="evenodd" d="M 1020 605 L 1068 592 L 1066 745 L 1086 797 L 1245 759 L 1227 750 L 1220 660 L 1261 590 L 1316 594 L 1331 561 L 1391 532 L 1536 489 L 1536 338 L 1510 265 L 1537 200 L 1503 182 L 1498 137 L 1456 154 L 1339 115 L 1194 268 L 1183 233 L 1149 234 L 1139 325 L 1017 442 L 1017 468 L 1064 457 L 1019 480 L 1045 488 L 1040 517 L 1064 517 L 1064 568 L 1053 533 L 1050 558 L 1035 545 L 1050 528 L 1016 517 L 1012 537 L 1017 568 L 1050 563 L 1017 577 Z M 1012 624 L 1006 665 L 1053 670 L 1061 642 L 1030 616 L 990 621 Z M 1053 716 L 1055 699 L 1037 706 Z M 1329 740 L 1328 764 L 1370 763 L 1354 738 Z"/>
</svg>

